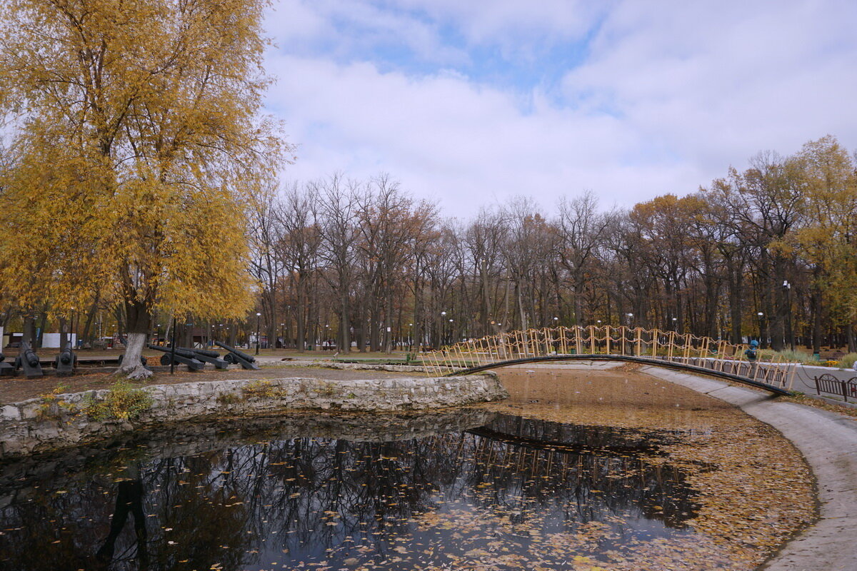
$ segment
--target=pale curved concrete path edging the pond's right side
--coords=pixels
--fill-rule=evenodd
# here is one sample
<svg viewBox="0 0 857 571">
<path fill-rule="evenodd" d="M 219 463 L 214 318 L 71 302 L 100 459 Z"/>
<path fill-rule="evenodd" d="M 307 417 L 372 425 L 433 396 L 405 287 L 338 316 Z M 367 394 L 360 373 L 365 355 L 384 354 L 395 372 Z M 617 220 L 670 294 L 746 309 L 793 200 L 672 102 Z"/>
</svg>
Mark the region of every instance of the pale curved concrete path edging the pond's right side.
<svg viewBox="0 0 857 571">
<path fill-rule="evenodd" d="M 762 569 L 857 569 L 857 421 L 690 373 L 656 366 L 645 366 L 640 371 L 740 407 L 781 431 L 812 467 L 818 484 L 820 518 Z"/>
</svg>

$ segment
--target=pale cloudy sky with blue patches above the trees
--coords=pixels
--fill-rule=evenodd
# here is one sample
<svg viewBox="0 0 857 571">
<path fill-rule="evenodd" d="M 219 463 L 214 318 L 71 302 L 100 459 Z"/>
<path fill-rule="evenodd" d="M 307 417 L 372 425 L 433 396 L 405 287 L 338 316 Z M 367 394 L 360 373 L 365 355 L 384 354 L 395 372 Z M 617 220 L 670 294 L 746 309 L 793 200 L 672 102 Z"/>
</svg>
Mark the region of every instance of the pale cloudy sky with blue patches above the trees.
<svg viewBox="0 0 857 571">
<path fill-rule="evenodd" d="M 285 180 L 386 172 L 447 215 L 589 189 L 690 193 L 836 135 L 857 148 L 857 2 L 274 0 Z"/>
</svg>

